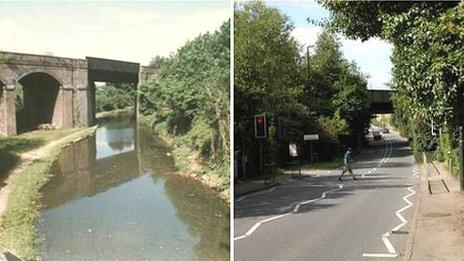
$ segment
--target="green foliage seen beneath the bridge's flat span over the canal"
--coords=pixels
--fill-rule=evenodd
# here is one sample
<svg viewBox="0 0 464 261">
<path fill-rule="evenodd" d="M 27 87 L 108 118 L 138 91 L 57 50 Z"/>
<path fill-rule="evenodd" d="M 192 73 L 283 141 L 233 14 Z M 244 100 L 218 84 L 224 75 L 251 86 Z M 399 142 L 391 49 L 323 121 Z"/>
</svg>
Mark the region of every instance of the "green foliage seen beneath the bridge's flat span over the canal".
<svg viewBox="0 0 464 261">
<path fill-rule="evenodd" d="M 96 112 L 124 109 L 134 105 L 136 86 L 127 83 L 106 83 L 95 90 Z"/>
</svg>

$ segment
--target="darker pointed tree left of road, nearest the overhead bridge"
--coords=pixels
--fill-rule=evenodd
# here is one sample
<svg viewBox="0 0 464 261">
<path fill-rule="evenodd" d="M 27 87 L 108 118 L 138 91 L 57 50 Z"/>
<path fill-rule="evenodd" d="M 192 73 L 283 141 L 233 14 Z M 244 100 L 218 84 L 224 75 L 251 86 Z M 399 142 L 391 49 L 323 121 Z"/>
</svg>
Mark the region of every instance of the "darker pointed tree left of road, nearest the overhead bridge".
<svg viewBox="0 0 464 261">
<path fill-rule="evenodd" d="M 343 57 L 340 48 L 333 33 L 324 31 L 318 37 L 310 59 L 305 105 L 318 119 L 321 132 L 330 133 L 328 142 L 357 147 L 370 120 L 367 77 Z"/>
</svg>

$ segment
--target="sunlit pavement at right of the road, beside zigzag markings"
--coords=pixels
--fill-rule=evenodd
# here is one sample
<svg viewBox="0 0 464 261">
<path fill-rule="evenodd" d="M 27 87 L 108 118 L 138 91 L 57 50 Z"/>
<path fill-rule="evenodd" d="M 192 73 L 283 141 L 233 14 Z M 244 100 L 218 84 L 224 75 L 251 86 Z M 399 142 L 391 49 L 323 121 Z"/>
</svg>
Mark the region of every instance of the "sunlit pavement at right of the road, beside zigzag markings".
<svg viewBox="0 0 464 261">
<path fill-rule="evenodd" d="M 421 173 L 420 203 L 405 260 L 464 260 L 459 181 L 440 163 L 423 164 Z"/>
</svg>

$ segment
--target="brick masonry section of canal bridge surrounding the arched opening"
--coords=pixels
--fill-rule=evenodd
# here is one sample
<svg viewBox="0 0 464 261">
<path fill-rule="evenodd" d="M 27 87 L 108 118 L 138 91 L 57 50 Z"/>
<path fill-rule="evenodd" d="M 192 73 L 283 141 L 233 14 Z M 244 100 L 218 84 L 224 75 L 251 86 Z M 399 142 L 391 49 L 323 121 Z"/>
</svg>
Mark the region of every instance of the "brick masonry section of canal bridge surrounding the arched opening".
<svg viewBox="0 0 464 261">
<path fill-rule="evenodd" d="M 59 82 L 52 123 L 57 127 L 90 126 L 88 97 L 87 61 L 45 55 L 0 52 L 0 133 L 17 133 L 15 86 L 24 77 L 33 73 L 43 73 Z M 24 86 L 23 86 L 24 87 Z"/>
</svg>

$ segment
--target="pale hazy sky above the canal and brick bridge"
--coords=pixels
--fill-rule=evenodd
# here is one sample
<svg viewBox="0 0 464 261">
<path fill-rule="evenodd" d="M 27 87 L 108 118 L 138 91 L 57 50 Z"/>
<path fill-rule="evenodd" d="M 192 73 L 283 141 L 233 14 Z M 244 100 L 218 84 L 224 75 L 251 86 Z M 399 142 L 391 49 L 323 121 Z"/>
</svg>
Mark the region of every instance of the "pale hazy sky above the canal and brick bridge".
<svg viewBox="0 0 464 261">
<path fill-rule="evenodd" d="M 0 2 L 0 50 L 148 65 L 229 17 L 228 1 Z"/>
</svg>

